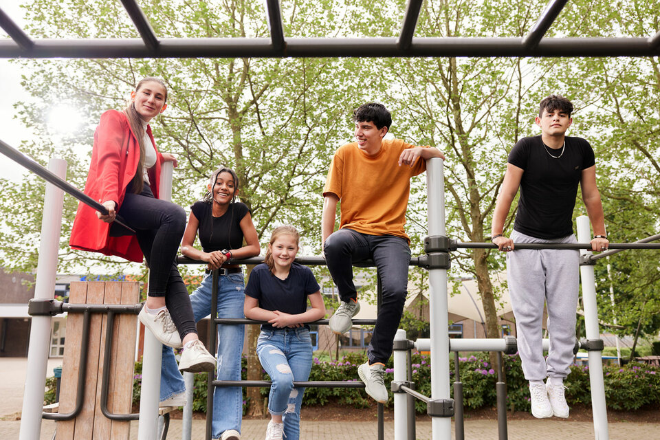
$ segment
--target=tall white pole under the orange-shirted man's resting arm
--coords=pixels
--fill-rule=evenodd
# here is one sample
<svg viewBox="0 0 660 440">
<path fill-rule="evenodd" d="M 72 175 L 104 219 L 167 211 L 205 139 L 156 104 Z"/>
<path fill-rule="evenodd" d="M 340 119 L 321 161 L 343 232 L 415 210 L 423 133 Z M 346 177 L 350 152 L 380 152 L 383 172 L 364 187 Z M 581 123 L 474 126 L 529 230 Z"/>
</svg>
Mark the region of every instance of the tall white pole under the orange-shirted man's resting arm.
<svg viewBox="0 0 660 440">
<path fill-rule="evenodd" d="M 443 160 L 433 157 L 426 161 L 428 186 L 428 234 L 446 235 L 445 181 Z M 429 270 L 430 333 L 431 333 L 431 398 L 449 399 L 449 318 L 447 306 L 447 270 Z M 451 417 L 432 417 L 432 439 L 448 440 L 452 435 Z"/>
</svg>

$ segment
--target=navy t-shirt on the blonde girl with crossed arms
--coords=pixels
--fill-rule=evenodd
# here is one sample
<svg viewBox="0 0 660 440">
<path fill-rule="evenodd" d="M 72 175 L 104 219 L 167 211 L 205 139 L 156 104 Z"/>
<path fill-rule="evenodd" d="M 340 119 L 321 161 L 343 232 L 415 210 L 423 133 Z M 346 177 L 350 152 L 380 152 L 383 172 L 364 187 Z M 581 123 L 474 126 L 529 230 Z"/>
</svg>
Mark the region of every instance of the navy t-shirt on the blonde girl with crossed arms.
<svg viewBox="0 0 660 440">
<path fill-rule="evenodd" d="M 259 300 L 264 310 L 279 310 L 287 314 L 302 314 L 307 310 L 307 296 L 321 288 L 309 267 L 293 263 L 287 279 L 281 280 L 270 272 L 268 265 L 261 263 L 252 270 L 245 295 Z M 305 324 L 309 329 L 309 325 Z M 270 324 L 261 325 L 262 330 L 272 330 Z"/>
</svg>

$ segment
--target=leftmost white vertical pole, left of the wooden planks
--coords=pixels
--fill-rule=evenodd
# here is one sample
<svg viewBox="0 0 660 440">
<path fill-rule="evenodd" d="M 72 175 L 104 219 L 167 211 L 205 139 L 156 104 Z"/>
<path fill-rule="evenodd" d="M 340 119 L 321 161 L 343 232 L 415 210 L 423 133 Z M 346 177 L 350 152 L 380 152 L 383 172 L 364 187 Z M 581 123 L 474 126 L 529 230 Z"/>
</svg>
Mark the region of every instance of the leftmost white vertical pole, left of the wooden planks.
<svg viewBox="0 0 660 440">
<path fill-rule="evenodd" d="M 52 158 L 48 170 L 57 177 L 66 179 L 67 162 Z M 64 191 L 53 184 L 46 184 L 43 200 L 43 218 L 41 219 L 41 243 L 39 243 L 39 262 L 36 269 L 35 299 L 55 297 L 55 276 L 57 256 L 60 247 L 60 229 L 62 228 L 62 207 Z M 43 393 L 46 384 L 48 347 L 50 346 L 50 316 L 33 316 L 30 325 L 28 366 L 25 371 L 25 391 L 23 392 L 23 412 L 19 439 L 39 439 L 41 432 L 41 412 Z"/>
</svg>

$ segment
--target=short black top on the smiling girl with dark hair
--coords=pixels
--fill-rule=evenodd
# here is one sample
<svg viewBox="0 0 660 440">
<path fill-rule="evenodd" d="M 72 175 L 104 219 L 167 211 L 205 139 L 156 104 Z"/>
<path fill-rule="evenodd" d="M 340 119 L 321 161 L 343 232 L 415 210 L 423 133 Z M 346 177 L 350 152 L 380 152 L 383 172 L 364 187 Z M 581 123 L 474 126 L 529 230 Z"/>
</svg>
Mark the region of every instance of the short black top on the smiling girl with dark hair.
<svg viewBox="0 0 660 440">
<path fill-rule="evenodd" d="M 245 203 L 231 203 L 221 217 L 212 216 L 212 205 L 206 201 L 196 201 L 190 209 L 199 220 L 199 242 L 204 252 L 243 247 L 241 220 L 250 212 Z"/>
</svg>

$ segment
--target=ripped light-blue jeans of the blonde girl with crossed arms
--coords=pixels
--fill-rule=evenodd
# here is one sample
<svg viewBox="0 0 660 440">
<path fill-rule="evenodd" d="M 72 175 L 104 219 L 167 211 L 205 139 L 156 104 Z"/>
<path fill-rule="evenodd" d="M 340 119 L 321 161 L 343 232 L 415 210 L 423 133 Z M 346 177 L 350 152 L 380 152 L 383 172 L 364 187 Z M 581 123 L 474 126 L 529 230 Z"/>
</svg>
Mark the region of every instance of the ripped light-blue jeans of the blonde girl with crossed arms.
<svg viewBox="0 0 660 440">
<path fill-rule="evenodd" d="M 295 381 L 309 379 L 311 371 L 311 338 L 309 330 L 262 330 L 256 342 L 261 366 L 272 380 L 268 410 L 282 415 L 287 440 L 300 437 L 300 405 L 305 388 L 294 388 Z"/>
</svg>

